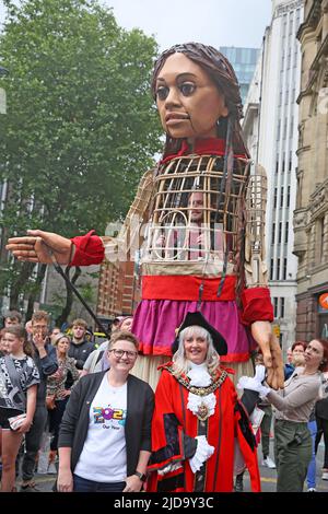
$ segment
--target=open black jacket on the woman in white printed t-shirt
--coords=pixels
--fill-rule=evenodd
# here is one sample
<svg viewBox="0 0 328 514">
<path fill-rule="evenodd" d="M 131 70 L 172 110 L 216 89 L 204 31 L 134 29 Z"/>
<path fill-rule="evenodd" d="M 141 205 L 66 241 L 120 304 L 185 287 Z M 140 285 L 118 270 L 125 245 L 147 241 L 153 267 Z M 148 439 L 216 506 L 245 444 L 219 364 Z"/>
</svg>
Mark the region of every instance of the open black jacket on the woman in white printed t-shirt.
<svg viewBox="0 0 328 514">
<path fill-rule="evenodd" d="M 72 389 L 59 432 L 58 447 L 71 447 L 71 469 L 78 464 L 89 430 L 90 405 L 95 397 L 106 371 L 80 378 Z M 151 452 L 151 422 L 154 410 L 152 388 L 133 375 L 128 376 L 127 419 L 127 474 L 137 469 L 141 449 Z"/>
</svg>

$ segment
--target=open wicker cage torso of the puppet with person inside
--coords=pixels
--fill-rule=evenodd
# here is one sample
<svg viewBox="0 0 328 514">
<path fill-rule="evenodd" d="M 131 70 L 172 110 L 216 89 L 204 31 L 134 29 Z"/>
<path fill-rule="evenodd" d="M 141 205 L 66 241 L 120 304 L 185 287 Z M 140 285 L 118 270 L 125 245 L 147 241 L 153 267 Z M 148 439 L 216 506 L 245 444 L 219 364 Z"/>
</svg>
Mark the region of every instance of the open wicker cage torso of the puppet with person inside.
<svg viewBox="0 0 328 514">
<path fill-rule="evenodd" d="M 223 165 L 222 156 L 188 155 L 160 167 L 154 179 L 145 261 L 220 267 L 227 256 L 233 272 L 249 161 L 234 160 L 225 187 Z"/>
</svg>

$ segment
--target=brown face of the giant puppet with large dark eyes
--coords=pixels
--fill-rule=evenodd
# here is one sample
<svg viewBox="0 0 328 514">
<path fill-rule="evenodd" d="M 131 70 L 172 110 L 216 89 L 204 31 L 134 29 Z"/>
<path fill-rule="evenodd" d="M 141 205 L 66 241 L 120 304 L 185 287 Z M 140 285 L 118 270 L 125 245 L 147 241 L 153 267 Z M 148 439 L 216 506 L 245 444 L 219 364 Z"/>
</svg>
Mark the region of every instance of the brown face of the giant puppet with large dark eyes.
<svg viewBox="0 0 328 514">
<path fill-rule="evenodd" d="M 156 79 L 162 126 L 172 138 L 215 138 L 216 121 L 229 112 L 224 96 L 200 66 L 184 54 L 169 56 Z"/>
</svg>

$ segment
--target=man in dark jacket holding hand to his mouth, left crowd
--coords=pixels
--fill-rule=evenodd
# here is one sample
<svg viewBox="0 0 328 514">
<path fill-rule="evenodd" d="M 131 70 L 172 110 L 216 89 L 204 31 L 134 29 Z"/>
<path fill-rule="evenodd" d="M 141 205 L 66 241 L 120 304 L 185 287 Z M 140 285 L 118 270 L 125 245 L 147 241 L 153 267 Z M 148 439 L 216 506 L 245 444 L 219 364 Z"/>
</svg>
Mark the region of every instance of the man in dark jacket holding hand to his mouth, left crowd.
<svg viewBox="0 0 328 514">
<path fill-rule="evenodd" d="M 22 464 L 22 492 L 38 492 L 33 481 L 35 462 L 40 448 L 42 436 L 47 422 L 46 387 L 47 376 L 58 370 L 56 348 L 50 344 L 48 337 L 49 315 L 45 311 L 37 311 L 32 316 L 32 343 L 34 347 L 34 362 L 38 369 L 40 383 L 37 389 L 36 408 L 33 424 L 25 434 L 25 453 Z"/>
</svg>

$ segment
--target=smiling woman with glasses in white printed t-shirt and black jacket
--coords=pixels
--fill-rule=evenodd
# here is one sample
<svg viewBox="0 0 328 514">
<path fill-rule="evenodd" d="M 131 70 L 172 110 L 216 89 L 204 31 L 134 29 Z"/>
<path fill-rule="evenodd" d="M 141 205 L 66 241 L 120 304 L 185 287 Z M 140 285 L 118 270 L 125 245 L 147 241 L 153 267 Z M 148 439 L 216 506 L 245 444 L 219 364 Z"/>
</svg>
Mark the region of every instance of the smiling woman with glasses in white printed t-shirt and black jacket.
<svg viewBox="0 0 328 514">
<path fill-rule="evenodd" d="M 130 375 L 138 339 L 115 331 L 109 370 L 82 377 L 72 389 L 59 433 L 61 492 L 138 492 L 151 455 L 153 392 Z"/>
</svg>

